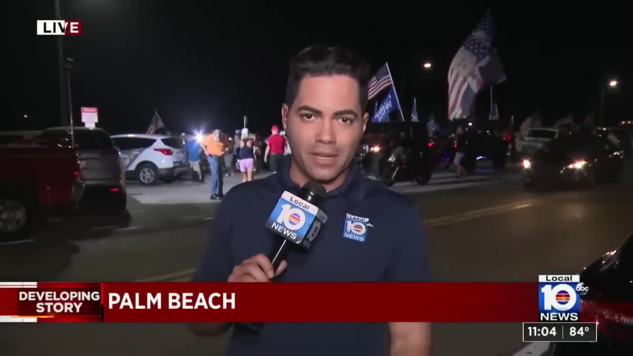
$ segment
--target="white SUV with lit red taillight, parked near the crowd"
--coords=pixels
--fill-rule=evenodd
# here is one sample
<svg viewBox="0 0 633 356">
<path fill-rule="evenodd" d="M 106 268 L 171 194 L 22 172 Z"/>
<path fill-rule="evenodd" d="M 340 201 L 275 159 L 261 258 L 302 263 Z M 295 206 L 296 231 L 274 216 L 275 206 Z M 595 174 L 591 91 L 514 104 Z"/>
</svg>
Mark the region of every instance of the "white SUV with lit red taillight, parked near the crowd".
<svg viewBox="0 0 633 356">
<path fill-rule="evenodd" d="M 179 137 L 127 134 L 111 136 L 121 151 L 125 177 L 141 184 L 171 182 L 189 172 L 185 146 Z"/>
</svg>

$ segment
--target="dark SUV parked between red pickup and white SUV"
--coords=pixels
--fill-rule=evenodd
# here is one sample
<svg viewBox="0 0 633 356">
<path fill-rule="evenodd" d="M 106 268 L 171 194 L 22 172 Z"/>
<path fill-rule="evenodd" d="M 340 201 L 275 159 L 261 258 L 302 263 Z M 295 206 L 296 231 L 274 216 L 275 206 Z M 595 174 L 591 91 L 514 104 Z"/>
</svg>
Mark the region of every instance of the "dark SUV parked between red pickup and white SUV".
<svg viewBox="0 0 633 356">
<path fill-rule="evenodd" d="M 119 151 L 105 130 L 73 127 L 71 135 L 70 127 L 51 127 L 40 136 L 57 146 L 70 148 L 74 144 L 84 173 L 86 200 L 125 210 L 127 192 Z"/>
</svg>

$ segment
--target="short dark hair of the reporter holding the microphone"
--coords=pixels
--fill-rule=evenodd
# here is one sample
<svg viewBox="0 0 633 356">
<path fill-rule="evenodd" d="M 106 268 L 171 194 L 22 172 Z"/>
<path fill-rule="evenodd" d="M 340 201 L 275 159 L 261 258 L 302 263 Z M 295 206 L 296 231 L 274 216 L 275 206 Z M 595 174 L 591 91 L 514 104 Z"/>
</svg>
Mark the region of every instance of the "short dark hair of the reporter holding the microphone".
<svg viewBox="0 0 633 356">
<path fill-rule="evenodd" d="M 304 77 L 322 75 L 349 75 L 358 82 L 360 107 L 367 106 L 367 85 L 371 75 L 368 63 L 346 48 L 313 46 L 303 49 L 290 62 L 288 82 L 285 86 L 285 103 L 292 106 Z"/>
</svg>

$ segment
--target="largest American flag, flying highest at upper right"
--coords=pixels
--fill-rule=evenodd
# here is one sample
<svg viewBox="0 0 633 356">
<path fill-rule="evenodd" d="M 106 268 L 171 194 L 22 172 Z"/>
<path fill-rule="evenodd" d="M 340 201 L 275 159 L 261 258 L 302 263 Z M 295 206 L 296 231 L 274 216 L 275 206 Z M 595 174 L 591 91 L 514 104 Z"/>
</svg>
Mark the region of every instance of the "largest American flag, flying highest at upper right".
<svg viewBox="0 0 633 356">
<path fill-rule="evenodd" d="M 455 54 L 448 70 L 448 118 L 470 115 L 482 87 L 506 79 L 501 59 L 492 47 L 494 24 L 488 13 Z"/>
</svg>

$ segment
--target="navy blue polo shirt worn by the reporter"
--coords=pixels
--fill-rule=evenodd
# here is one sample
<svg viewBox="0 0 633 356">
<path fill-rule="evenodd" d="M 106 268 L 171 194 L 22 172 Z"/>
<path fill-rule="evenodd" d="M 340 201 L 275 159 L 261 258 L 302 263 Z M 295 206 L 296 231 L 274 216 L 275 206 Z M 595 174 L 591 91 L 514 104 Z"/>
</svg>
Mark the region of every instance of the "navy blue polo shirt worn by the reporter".
<svg viewBox="0 0 633 356">
<path fill-rule="evenodd" d="M 235 265 L 258 253 L 268 255 L 279 245 L 282 238 L 264 224 L 284 190 L 299 193 L 289 167 L 286 158 L 277 174 L 239 184 L 225 195 L 194 281 L 226 282 Z M 429 280 L 426 235 L 412 200 L 370 181 L 354 166 L 346 181 L 327 193 L 321 208 L 327 224 L 307 253 L 289 252 L 279 281 Z M 364 241 L 346 237 L 347 214 L 368 219 Z M 386 331 L 386 324 L 378 323 L 266 323 L 259 333 L 235 326 L 228 354 L 384 355 Z"/>
</svg>

